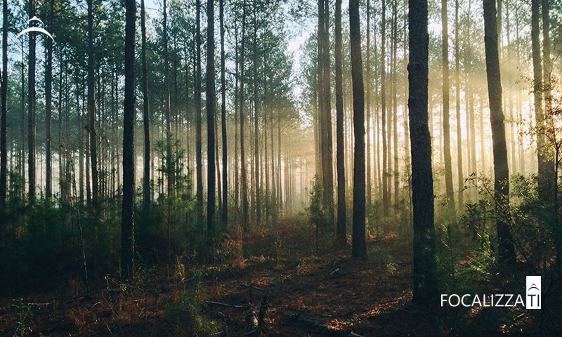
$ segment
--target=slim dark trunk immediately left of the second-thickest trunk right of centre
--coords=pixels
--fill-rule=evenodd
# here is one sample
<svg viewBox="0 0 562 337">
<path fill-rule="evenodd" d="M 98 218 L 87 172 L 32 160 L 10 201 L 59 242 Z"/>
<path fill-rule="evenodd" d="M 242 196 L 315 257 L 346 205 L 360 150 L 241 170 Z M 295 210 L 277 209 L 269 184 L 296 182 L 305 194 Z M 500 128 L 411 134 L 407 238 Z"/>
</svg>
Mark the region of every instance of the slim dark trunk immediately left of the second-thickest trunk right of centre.
<svg viewBox="0 0 562 337">
<path fill-rule="evenodd" d="M 336 241 L 345 244 L 346 237 L 346 168 L 344 158 L 344 89 L 341 70 L 341 0 L 336 0 L 336 25 L 334 53 L 336 66 L 336 166 L 338 184 L 338 208 L 336 221 Z"/>
</svg>

